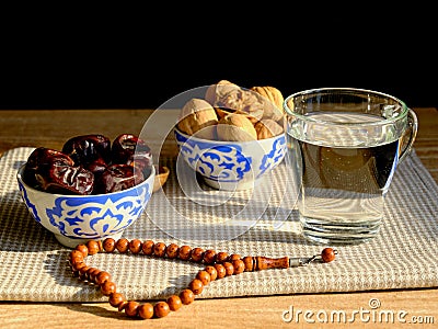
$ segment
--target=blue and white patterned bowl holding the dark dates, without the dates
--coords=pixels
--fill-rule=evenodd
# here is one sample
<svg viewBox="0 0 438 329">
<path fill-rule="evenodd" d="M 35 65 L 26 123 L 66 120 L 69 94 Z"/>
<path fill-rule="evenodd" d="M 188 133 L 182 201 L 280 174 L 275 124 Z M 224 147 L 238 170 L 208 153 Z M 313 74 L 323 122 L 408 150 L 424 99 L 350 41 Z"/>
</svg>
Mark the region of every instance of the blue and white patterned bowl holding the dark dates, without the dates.
<svg viewBox="0 0 438 329">
<path fill-rule="evenodd" d="M 153 188 L 155 169 L 140 184 L 114 193 L 62 195 L 38 191 L 23 181 L 24 164 L 16 179 L 22 198 L 34 219 L 64 246 L 74 248 L 89 240 L 119 239 L 145 211 Z"/>
</svg>

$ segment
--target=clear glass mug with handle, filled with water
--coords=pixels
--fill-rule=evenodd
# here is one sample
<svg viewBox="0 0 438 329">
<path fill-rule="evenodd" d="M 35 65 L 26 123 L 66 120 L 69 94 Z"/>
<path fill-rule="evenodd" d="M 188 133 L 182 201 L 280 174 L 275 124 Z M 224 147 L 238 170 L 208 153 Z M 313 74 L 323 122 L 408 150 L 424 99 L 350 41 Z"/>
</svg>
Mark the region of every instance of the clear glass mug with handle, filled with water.
<svg viewBox="0 0 438 329">
<path fill-rule="evenodd" d="M 354 88 L 306 90 L 284 105 L 302 235 L 332 245 L 373 238 L 397 163 L 416 137 L 414 111 L 392 95 Z"/>
</svg>

